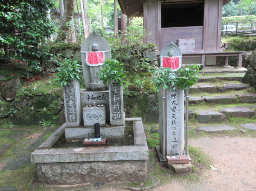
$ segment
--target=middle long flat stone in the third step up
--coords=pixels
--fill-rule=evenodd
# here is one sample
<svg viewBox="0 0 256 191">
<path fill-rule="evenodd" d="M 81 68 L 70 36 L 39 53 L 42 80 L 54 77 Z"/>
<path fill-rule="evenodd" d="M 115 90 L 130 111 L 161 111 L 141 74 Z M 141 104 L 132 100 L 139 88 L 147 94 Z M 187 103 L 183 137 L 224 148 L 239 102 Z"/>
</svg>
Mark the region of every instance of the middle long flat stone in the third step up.
<svg viewBox="0 0 256 191">
<path fill-rule="evenodd" d="M 223 103 L 232 104 L 237 102 L 236 96 L 233 95 L 221 95 L 221 96 L 203 96 L 207 103 Z"/>
</svg>

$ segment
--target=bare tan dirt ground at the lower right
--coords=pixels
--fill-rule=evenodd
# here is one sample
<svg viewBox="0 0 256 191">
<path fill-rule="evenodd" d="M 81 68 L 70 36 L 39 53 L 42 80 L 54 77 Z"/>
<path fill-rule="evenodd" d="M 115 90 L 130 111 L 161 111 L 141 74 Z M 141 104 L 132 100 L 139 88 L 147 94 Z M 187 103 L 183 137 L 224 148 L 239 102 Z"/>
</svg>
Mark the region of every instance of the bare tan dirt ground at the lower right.
<svg viewBox="0 0 256 191">
<path fill-rule="evenodd" d="M 256 190 L 256 138 L 204 137 L 189 144 L 210 155 L 218 171 L 207 170 L 198 183 L 172 182 L 154 190 Z"/>
</svg>

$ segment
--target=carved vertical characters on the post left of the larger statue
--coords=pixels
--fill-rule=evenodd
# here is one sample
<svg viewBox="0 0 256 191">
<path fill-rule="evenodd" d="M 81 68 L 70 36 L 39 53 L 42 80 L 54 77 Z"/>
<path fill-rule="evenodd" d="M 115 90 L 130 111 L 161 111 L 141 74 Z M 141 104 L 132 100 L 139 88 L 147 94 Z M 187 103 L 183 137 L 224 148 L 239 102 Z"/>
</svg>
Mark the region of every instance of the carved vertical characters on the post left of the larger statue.
<svg viewBox="0 0 256 191">
<path fill-rule="evenodd" d="M 66 86 L 65 96 L 68 121 L 75 122 L 77 121 L 77 110 L 75 103 L 75 87 L 73 85 Z"/>
</svg>

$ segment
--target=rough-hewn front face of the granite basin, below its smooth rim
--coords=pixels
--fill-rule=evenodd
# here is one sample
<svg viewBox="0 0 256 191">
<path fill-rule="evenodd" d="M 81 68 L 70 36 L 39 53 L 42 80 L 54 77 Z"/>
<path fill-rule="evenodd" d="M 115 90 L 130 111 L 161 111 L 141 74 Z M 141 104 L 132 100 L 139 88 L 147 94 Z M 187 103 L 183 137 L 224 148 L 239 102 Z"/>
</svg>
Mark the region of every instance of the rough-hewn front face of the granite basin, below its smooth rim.
<svg viewBox="0 0 256 191">
<path fill-rule="evenodd" d="M 38 181 L 46 184 L 142 181 L 147 178 L 146 160 L 38 163 Z"/>
</svg>

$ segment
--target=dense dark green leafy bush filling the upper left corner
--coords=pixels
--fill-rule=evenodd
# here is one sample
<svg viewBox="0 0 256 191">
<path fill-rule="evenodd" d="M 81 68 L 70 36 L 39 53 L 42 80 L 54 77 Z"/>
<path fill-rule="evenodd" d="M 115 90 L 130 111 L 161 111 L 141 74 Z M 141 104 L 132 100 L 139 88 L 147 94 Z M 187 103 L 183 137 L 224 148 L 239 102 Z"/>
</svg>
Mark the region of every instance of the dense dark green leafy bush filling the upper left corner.
<svg viewBox="0 0 256 191">
<path fill-rule="evenodd" d="M 53 23 L 47 18 L 53 0 L 6 0 L 0 4 L 0 49 L 5 57 L 28 61 L 36 68 L 45 52 L 38 45 L 45 44 L 53 33 Z M 29 62 L 30 60 L 30 62 Z"/>
</svg>

